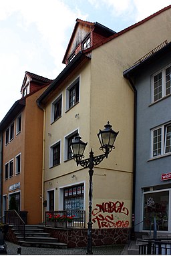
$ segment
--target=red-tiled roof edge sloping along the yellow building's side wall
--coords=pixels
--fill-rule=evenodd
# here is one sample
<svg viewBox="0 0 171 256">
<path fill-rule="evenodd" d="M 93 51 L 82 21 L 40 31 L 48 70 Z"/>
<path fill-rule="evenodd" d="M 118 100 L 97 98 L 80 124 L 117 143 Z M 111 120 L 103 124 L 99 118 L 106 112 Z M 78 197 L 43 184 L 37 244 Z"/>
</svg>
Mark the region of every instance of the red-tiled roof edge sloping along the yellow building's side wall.
<svg viewBox="0 0 171 256">
<path fill-rule="evenodd" d="M 171 8 L 171 5 L 168 5 L 167 7 L 164 7 L 163 9 L 161 9 L 160 11 L 157 11 L 156 13 L 146 17 L 145 19 L 142 19 L 142 21 L 139 21 L 138 23 L 135 23 L 134 25 L 131 25 L 130 27 L 127 27 L 126 29 L 121 30 L 118 33 L 115 33 L 114 35 L 112 35 L 111 37 L 108 37 L 102 41 L 100 41 L 99 43 L 96 43 L 96 45 L 93 45 L 92 47 L 83 50 L 84 53 L 88 53 L 89 51 L 92 51 L 92 49 L 96 49 L 98 47 L 100 47 L 100 45 L 104 45 L 105 43 L 108 43 L 108 41 L 111 41 L 112 39 L 115 39 L 116 37 L 123 35 L 124 33 L 130 31 L 131 29 L 134 29 L 135 27 L 138 27 L 139 25 L 142 25 L 143 23 L 145 23 L 146 21 L 156 17 L 157 15 L 160 15 L 160 13 L 167 11 L 168 9 Z"/>
</svg>

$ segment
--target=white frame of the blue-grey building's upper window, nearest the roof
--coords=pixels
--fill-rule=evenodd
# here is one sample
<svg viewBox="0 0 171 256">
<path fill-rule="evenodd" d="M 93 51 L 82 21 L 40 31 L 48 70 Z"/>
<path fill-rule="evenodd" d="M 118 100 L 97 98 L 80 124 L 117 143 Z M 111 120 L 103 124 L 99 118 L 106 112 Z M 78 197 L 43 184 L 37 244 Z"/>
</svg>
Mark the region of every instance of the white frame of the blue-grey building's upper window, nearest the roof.
<svg viewBox="0 0 171 256">
<path fill-rule="evenodd" d="M 159 100 L 162 100 L 162 98 L 169 96 L 171 94 L 170 92 L 170 94 L 166 95 L 166 69 L 167 68 L 171 68 L 171 64 L 152 75 L 152 103 L 158 102 Z M 162 97 L 158 100 L 154 100 L 154 76 L 157 76 L 160 73 L 162 73 Z"/>
</svg>

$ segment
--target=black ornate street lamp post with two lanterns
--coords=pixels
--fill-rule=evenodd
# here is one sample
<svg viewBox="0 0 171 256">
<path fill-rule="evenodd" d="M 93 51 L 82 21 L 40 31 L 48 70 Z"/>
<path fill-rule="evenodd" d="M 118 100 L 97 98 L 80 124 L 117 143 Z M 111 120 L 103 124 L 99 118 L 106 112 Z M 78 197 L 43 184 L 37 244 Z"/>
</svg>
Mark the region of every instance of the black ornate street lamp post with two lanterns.
<svg viewBox="0 0 171 256">
<path fill-rule="evenodd" d="M 81 141 L 80 136 L 75 136 L 73 138 L 73 142 L 71 142 L 71 151 L 73 154 L 73 159 L 78 165 L 81 165 L 83 168 L 89 168 L 89 218 L 88 218 L 88 251 L 87 254 L 93 254 L 92 252 L 92 178 L 94 174 L 94 166 L 100 164 L 104 158 L 108 158 L 108 154 L 114 149 L 114 142 L 118 135 L 118 132 L 114 132 L 112 130 L 112 125 L 110 122 L 106 124 L 104 130 L 100 130 L 98 133 L 98 138 L 100 140 L 100 150 L 104 152 L 104 154 L 100 154 L 98 156 L 94 156 L 94 152 L 90 150 L 90 158 L 82 160 L 83 152 L 85 150 L 85 146 L 88 143 Z"/>
</svg>

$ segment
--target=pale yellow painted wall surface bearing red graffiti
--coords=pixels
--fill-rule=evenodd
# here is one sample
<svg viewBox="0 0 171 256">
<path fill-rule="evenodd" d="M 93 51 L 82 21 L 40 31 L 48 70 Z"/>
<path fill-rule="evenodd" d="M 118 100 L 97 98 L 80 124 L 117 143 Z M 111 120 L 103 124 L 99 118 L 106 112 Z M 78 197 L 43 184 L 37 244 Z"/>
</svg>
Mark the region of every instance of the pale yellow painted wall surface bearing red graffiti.
<svg viewBox="0 0 171 256">
<path fill-rule="evenodd" d="M 58 92 L 58 95 L 62 93 L 63 96 L 63 114 L 54 124 L 51 124 L 51 106 L 47 104 L 44 199 L 47 199 L 47 190 L 55 189 L 56 210 L 62 209 L 60 205 L 62 194 L 59 190 L 63 186 L 85 182 L 85 210 L 86 213 L 88 212 L 88 170 L 75 167 L 73 160 L 63 162 L 63 138 L 78 128 L 82 140 L 88 142 L 85 158 L 88 157 L 91 148 L 95 155 L 102 154 L 96 134 L 99 129 L 104 129 L 104 124 L 110 121 L 112 128 L 116 132 L 119 131 L 119 134 L 116 138 L 116 149 L 98 168 L 94 168 L 94 218 L 99 217 L 96 210 L 97 207 L 99 208 L 98 205 L 101 205 L 102 209 L 102 205 L 106 204 L 109 210 L 104 210 L 103 215 L 100 215 L 102 219 L 100 223 L 97 219 L 94 221 L 94 227 L 111 228 L 117 225 L 130 227 L 134 156 L 134 92 L 123 78 L 123 71 L 166 39 L 170 41 L 170 14 L 170 10 L 165 11 L 94 49 L 91 62 L 75 75 L 75 78 L 79 75 L 81 78 L 79 103 L 65 112 L 65 88 L 71 82 L 70 80 Z M 58 95 L 54 95 L 54 99 Z M 79 118 L 75 119 L 75 114 L 79 114 Z M 48 136 L 48 133 L 51 136 Z M 61 140 L 61 164 L 49 169 L 49 147 L 58 140 Z M 71 174 L 75 174 L 75 180 L 71 178 Z M 102 214 L 102 211 L 99 214 Z M 108 221 L 105 219 L 106 215 L 110 215 L 107 218 Z M 117 221 L 121 223 L 116 224 Z"/>
</svg>

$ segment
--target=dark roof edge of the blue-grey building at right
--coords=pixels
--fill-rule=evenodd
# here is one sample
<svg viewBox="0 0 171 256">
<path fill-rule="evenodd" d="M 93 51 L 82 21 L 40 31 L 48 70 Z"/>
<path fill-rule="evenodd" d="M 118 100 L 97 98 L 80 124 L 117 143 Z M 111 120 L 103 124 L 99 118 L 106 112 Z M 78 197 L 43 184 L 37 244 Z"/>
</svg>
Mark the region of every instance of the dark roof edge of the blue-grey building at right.
<svg viewBox="0 0 171 256">
<path fill-rule="evenodd" d="M 148 57 L 146 57 L 143 61 L 138 60 L 136 62 L 138 64 L 135 63 L 134 66 L 130 67 L 128 70 L 125 70 L 123 72 L 124 78 L 128 78 L 128 76 L 136 74 L 136 72 L 138 70 L 140 70 L 141 68 L 144 68 L 144 66 L 147 66 L 148 64 L 150 64 L 150 63 L 152 63 L 154 61 L 157 61 L 159 59 L 159 57 L 161 57 L 162 55 L 168 53 L 168 51 L 171 52 L 171 42 L 170 43 L 166 43 L 166 45 L 164 47 L 160 48 L 158 51 L 154 51 L 154 53 L 152 53 L 152 54 L 148 53 L 147 54 Z"/>
</svg>

